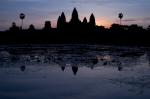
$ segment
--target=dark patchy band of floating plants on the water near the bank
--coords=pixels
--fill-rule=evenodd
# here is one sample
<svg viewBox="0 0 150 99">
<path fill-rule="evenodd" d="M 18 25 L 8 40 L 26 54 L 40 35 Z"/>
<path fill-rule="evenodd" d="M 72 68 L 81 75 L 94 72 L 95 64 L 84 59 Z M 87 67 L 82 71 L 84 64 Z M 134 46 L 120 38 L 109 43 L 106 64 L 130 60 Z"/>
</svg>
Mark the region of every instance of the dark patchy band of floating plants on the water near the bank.
<svg viewBox="0 0 150 99">
<path fill-rule="evenodd" d="M 76 64 L 77 66 L 87 66 L 92 69 L 97 64 L 102 66 L 117 66 L 121 70 L 123 66 L 134 66 L 138 64 L 141 56 L 147 54 L 141 49 L 129 48 L 96 48 L 85 47 L 72 49 L 72 46 L 57 49 L 57 47 L 26 49 L 26 48 L 8 48 L 0 51 L 0 63 L 25 63 L 25 64 L 46 64 L 56 63 L 62 67 L 66 64 Z M 13 49 L 13 51 L 12 51 Z"/>
</svg>

